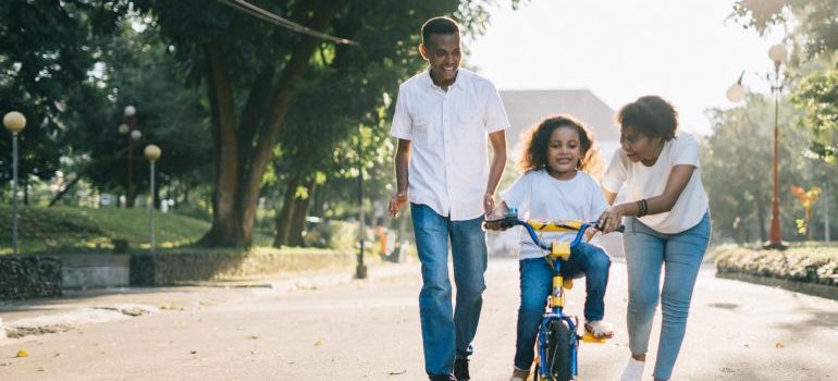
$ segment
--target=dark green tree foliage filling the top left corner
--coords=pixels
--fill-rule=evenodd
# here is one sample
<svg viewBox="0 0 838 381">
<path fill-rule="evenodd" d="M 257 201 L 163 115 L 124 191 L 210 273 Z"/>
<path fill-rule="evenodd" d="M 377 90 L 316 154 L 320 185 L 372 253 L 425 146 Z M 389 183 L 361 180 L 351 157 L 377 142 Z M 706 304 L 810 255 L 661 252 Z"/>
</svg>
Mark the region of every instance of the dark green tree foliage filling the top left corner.
<svg viewBox="0 0 838 381">
<path fill-rule="evenodd" d="M 94 66 L 95 36 L 109 33 L 126 9 L 121 1 L 0 2 L 0 113 L 27 119 L 21 133 L 20 174 L 49 179 L 65 148 L 62 102 Z M 0 152 L 11 151 L 3 128 Z M 0 181 L 10 179 L 11 156 L 0 156 Z"/>
</svg>

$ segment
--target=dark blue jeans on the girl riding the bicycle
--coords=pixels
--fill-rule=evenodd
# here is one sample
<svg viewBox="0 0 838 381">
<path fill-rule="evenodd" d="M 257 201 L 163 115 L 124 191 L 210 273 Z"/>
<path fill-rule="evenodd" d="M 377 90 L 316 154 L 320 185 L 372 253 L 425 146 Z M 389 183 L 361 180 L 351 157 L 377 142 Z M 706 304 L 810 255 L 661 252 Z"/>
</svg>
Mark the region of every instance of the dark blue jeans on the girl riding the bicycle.
<svg viewBox="0 0 838 381">
<path fill-rule="evenodd" d="M 562 275 L 569 279 L 584 276 L 584 319 L 602 320 L 605 315 L 605 287 L 608 285 L 611 259 L 599 246 L 581 243 L 570 251 L 567 261 L 559 261 Z M 521 259 L 519 263 L 521 305 L 518 308 L 518 339 L 515 343 L 515 367 L 529 369 L 534 357 L 535 336 L 539 333 L 547 296 L 553 292 L 553 266 L 544 258 Z"/>
</svg>

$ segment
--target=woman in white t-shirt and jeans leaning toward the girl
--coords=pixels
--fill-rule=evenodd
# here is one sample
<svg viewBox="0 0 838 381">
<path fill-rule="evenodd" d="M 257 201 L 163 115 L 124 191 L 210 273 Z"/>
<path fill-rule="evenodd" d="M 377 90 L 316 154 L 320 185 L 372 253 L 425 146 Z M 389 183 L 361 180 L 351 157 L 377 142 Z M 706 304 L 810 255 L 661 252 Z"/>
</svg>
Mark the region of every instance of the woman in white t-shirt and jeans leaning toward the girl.
<svg viewBox="0 0 838 381">
<path fill-rule="evenodd" d="M 629 278 L 631 358 L 620 380 L 640 380 L 657 302 L 663 321 L 655 380 L 668 380 L 683 341 L 693 285 L 710 238 L 707 196 L 701 184 L 699 143 L 678 133 L 678 113 L 657 96 L 641 97 L 618 113 L 620 150 L 602 181 L 614 204 L 626 186 L 630 201 L 600 218 L 604 232 L 626 217 L 623 236 Z M 664 265 L 664 285 L 660 287 Z"/>
</svg>

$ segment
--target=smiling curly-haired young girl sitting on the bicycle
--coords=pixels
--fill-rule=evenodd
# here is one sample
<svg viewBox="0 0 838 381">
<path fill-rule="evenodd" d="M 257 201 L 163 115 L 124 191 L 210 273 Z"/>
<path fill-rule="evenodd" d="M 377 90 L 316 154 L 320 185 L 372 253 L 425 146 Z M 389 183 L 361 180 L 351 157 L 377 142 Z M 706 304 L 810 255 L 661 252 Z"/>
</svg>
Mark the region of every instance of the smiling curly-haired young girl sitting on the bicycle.
<svg viewBox="0 0 838 381">
<path fill-rule="evenodd" d="M 501 194 L 503 202 L 486 218 L 496 219 L 509 207 L 530 219 L 592 221 L 608 207 L 600 185 L 582 170 L 591 168 L 596 157 L 593 139 L 581 122 L 569 115 L 545 119 L 527 142 L 521 158 L 521 175 Z M 574 233 L 544 233 L 544 239 L 567 241 Z M 527 380 L 534 357 L 535 336 L 544 306 L 551 293 L 553 268 L 543 259 L 545 253 L 521 231 L 518 337 L 515 370 L 510 381 Z M 611 337 L 614 329 L 603 321 L 603 297 L 608 283 L 611 259 L 600 247 L 581 243 L 574 248 L 562 272 L 574 279 L 586 276 L 584 329 L 596 337 Z"/>
</svg>

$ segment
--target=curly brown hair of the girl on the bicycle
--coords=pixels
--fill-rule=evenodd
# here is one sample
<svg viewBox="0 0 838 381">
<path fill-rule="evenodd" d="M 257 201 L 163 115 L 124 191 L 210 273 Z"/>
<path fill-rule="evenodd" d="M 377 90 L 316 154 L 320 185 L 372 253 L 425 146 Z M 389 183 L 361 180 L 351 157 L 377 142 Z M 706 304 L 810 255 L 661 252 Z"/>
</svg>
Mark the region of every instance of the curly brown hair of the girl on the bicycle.
<svg viewBox="0 0 838 381">
<path fill-rule="evenodd" d="M 550 136 L 554 130 L 559 127 L 574 128 L 579 134 L 579 150 L 581 155 L 576 168 L 594 177 L 599 177 L 600 172 L 602 172 L 602 163 L 597 148 L 594 145 L 593 133 L 581 121 L 568 114 L 546 118 L 526 133 L 528 136 L 525 140 L 523 156 L 519 163 L 521 171 L 529 172 L 547 167 Z"/>
</svg>

